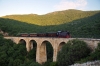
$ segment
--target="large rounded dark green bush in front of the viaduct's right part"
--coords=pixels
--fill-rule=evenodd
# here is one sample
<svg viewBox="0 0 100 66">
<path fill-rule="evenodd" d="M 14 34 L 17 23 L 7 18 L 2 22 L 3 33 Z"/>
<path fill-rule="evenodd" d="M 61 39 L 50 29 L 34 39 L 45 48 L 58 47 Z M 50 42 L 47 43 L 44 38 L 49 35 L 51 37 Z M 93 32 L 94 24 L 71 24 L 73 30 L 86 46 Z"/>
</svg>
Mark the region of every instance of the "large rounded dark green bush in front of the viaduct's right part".
<svg viewBox="0 0 100 66">
<path fill-rule="evenodd" d="M 87 44 L 78 39 L 69 41 L 62 47 L 58 53 L 57 61 L 59 66 L 68 66 L 76 61 L 87 57 L 90 54 L 90 49 Z"/>
</svg>

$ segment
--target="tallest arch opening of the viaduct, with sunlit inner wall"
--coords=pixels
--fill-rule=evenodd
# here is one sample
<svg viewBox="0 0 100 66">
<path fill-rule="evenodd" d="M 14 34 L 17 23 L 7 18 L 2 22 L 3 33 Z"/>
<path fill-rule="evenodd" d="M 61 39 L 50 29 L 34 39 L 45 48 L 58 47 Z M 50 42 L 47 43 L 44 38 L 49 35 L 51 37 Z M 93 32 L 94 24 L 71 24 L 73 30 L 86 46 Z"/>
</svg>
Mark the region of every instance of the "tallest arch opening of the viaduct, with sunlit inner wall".
<svg viewBox="0 0 100 66">
<path fill-rule="evenodd" d="M 40 46 L 41 63 L 53 61 L 53 47 L 49 41 L 43 41 Z"/>
</svg>

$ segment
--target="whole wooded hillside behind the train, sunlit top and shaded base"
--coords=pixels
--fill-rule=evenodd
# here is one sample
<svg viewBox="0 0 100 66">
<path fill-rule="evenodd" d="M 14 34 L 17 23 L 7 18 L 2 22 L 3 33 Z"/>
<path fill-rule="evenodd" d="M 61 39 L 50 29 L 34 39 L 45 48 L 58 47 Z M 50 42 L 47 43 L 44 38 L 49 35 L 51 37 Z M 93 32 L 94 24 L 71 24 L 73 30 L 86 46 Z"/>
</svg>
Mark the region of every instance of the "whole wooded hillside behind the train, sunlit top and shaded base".
<svg viewBox="0 0 100 66">
<path fill-rule="evenodd" d="M 45 15 L 9 15 L 0 18 L 9 35 L 69 31 L 72 37 L 100 38 L 100 11 L 65 10 Z"/>
</svg>

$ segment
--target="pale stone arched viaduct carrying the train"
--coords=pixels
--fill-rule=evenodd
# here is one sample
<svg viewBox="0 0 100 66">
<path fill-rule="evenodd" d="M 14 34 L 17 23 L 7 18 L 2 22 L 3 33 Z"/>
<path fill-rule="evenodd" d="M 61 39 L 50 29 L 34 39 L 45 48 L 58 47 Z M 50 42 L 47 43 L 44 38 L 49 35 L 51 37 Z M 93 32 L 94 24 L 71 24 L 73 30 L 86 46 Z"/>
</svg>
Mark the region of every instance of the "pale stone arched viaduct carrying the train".
<svg viewBox="0 0 100 66">
<path fill-rule="evenodd" d="M 4 37 L 6 39 L 11 39 L 16 44 L 24 41 L 26 43 L 26 49 L 29 52 L 33 48 L 33 41 L 37 43 L 36 49 L 36 62 L 43 63 L 47 61 L 46 54 L 46 43 L 50 42 L 53 47 L 53 61 L 57 60 L 57 53 L 60 51 L 61 47 L 66 44 L 69 40 L 76 38 L 52 38 L 52 37 Z M 100 39 L 91 38 L 77 38 L 85 41 L 88 46 L 92 49 L 97 47 Z"/>
</svg>

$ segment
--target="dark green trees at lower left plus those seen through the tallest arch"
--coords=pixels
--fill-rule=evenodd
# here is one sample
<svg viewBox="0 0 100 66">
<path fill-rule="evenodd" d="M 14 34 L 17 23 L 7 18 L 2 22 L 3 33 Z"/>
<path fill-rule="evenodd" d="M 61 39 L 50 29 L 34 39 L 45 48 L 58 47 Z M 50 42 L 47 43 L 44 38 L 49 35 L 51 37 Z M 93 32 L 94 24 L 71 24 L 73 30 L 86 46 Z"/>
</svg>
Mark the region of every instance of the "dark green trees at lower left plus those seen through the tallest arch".
<svg viewBox="0 0 100 66">
<path fill-rule="evenodd" d="M 33 49 L 27 52 L 25 43 L 16 44 L 0 35 L 0 66 L 41 66 L 36 62 L 36 43 L 33 45 Z M 49 42 L 46 47 L 48 61 L 43 66 L 49 66 L 53 60 L 53 48 Z"/>
</svg>

